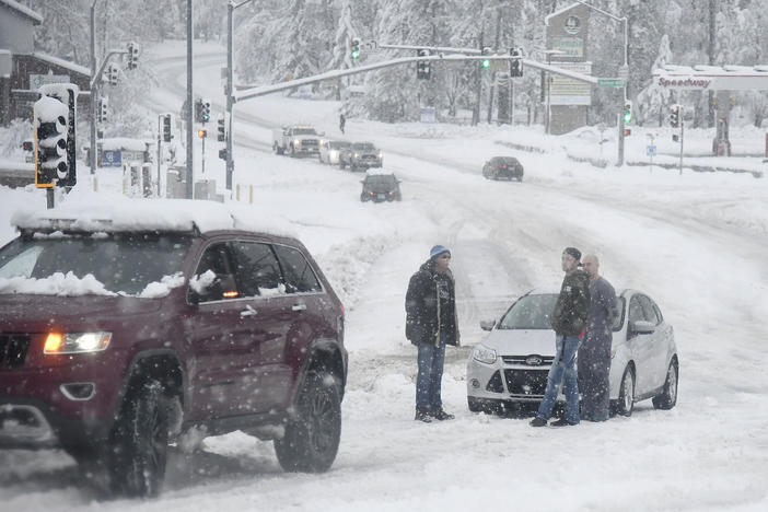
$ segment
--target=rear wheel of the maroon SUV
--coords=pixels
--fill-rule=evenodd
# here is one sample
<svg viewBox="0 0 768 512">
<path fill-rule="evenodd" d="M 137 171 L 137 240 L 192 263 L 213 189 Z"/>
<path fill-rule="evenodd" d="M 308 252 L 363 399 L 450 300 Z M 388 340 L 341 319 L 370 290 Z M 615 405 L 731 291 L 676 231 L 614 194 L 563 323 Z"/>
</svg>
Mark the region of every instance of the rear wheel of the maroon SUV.
<svg viewBox="0 0 768 512">
<path fill-rule="evenodd" d="M 341 399 L 333 375 L 307 374 L 295 408 L 286 434 L 275 440 L 278 462 L 287 472 L 325 472 L 336 458 L 341 438 Z"/>
</svg>

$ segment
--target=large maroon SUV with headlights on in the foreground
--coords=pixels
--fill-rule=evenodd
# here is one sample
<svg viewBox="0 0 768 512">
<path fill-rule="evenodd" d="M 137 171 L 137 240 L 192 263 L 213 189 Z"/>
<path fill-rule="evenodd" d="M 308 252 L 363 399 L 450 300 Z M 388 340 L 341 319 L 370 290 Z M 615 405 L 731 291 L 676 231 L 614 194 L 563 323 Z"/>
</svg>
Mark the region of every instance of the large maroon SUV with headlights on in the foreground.
<svg viewBox="0 0 768 512">
<path fill-rule="evenodd" d="M 178 202 L 189 212 L 136 201 L 143 225 L 16 219 L 0 248 L 0 446 L 62 447 L 120 496 L 156 496 L 168 443 L 193 429 L 271 439 L 286 470 L 328 469 L 341 302 L 298 240 L 247 216 L 206 225 L 203 201 Z"/>
</svg>

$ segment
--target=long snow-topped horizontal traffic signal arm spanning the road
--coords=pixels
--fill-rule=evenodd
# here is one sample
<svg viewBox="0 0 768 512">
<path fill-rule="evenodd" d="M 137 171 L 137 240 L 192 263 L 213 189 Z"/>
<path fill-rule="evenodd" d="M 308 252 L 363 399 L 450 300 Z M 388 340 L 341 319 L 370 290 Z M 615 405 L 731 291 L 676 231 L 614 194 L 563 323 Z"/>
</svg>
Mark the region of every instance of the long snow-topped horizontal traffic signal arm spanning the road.
<svg viewBox="0 0 768 512">
<path fill-rule="evenodd" d="M 409 47 L 408 49 L 431 49 L 431 48 Z M 372 65 L 357 66 L 352 69 L 326 71 L 325 73 L 315 74 L 313 77 L 307 77 L 307 78 L 296 79 L 296 80 L 289 80 L 288 82 L 280 82 L 280 83 L 276 83 L 272 85 L 261 85 L 258 88 L 247 88 L 247 86 L 240 86 L 238 85 L 236 88 L 236 89 L 238 89 L 238 91 L 234 93 L 233 100 L 235 102 L 242 102 L 244 100 L 264 96 L 266 94 L 271 94 L 271 93 L 278 92 L 278 91 L 284 91 L 287 89 L 292 89 L 292 88 L 295 88 L 299 85 L 306 85 L 310 83 L 322 82 L 325 80 L 336 79 L 339 77 L 348 77 L 350 74 L 364 73 L 368 71 L 372 71 L 374 69 L 389 68 L 392 66 L 399 66 L 399 65 L 406 65 L 406 63 L 410 63 L 410 62 L 418 62 L 419 60 L 463 62 L 463 61 L 485 60 L 485 59 L 509 61 L 511 58 L 512 57 L 510 57 L 509 54 L 505 54 L 505 55 L 480 55 L 479 49 L 477 50 L 477 55 L 474 55 L 474 54 L 473 55 L 438 54 L 438 55 L 430 55 L 427 57 L 418 57 L 418 56 L 399 57 L 396 59 L 384 60 L 382 62 L 376 62 L 376 63 L 372 63 Z M 520 60 L 523 62 L 524 66 L 528 66 L 531 68 L 543 69 L 545 71 L 549 71 L 549 72 L 555 73 L 555 74 L 562 74 L 563 77 L 569 77 L 569 78 L 572 78 L 575 80 L 580 80 L 582 82 L 587 82 L 587 83 L 592 83 L 595 85 L 597 84 L 597 77 L 590 77 L 589 74 L 582 74 L 582 73 L 578 73 L 575 71 L 569 71 L 566 69 L 558 68 L 557 66 L 545 65 L 545 63 L 538 62 L 536 60 L 528 60 L 528 59 L 520 59 Z"/>
</svg>

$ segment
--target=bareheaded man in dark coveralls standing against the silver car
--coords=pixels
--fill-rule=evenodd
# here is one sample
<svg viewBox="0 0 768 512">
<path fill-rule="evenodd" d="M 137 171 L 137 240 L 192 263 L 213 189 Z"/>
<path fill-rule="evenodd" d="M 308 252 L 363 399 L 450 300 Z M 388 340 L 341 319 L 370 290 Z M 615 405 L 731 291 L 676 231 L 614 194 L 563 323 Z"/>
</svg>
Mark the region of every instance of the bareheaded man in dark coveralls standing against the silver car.
<svg viewBox="0 0 768 512">
<path fill-rule="evenodd" d="M 590 276 L 590 316 L 584 341 L 579 347 L 579 387 L 583 396 L 582 417 L 589 421 L 608 419 L 610 344 L 616 316 L 616 291 L 600 272 L 594 254 L 584 256 L 584 271 Z"/>
</svg>

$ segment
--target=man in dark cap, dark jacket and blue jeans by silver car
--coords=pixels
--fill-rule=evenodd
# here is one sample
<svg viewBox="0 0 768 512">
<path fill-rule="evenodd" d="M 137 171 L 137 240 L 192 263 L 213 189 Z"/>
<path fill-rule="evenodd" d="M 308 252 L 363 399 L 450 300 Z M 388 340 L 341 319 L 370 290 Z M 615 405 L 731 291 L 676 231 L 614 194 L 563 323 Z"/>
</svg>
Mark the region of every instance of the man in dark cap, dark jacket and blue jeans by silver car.
<svg viewBox="0 0 768 512">
<path fill-rule="evenodd" d="M 555 303 L 551 316 L 555 329 L 556 353 L 552 365 L 547 375 L 547 388 L 544 399 L 538 407 L 536 418 L 531 421 L 532 427 L 544 427 L 552 414 L 557 400 L 560 382 L 566 395 L 566 415 L 552 427 L 579 424 L 579 383 L 577 382 L 575 356 L 579 342 L 584 336 L 586 317 L 590 310 L 590 278 L 583 270 L 579 270 L 581 252 L 575 247 L 566 247 L 562 252 L 562 270 L 566 278 L 562 280 L 560 296 Z"/>
</svg>

